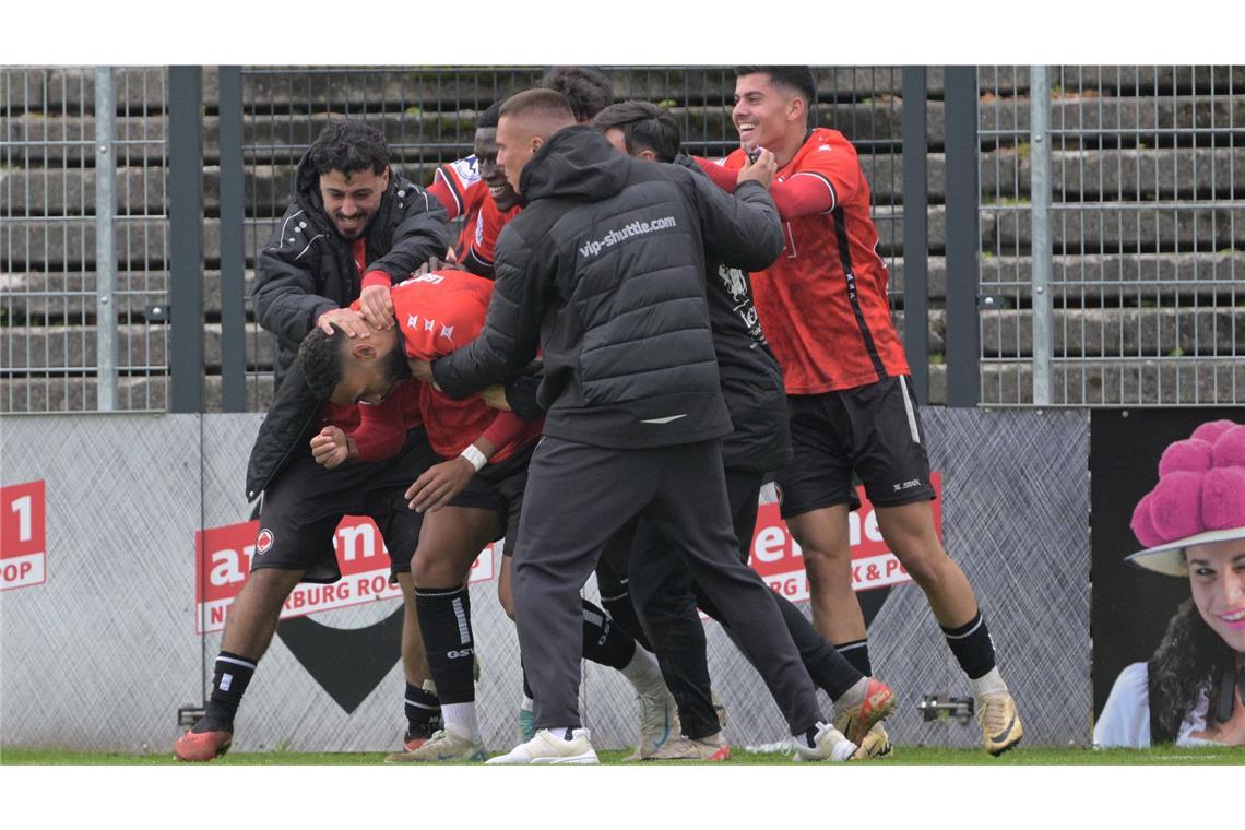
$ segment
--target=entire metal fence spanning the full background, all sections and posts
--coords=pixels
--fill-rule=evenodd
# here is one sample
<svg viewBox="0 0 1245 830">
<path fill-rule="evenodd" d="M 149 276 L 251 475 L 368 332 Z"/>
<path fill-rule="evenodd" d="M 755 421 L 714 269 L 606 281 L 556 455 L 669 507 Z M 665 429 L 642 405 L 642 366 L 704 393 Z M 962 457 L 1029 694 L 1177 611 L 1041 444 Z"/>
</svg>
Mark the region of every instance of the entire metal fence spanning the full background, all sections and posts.
<svg viewBox="0 0 1245 830">
<path fill-rule="evenodd" d="M 181 156 L 181 70 L 0 68 L 0 412 L 265 409 L 275 350 L 250 309 L 254 264 L 322 123 L 376 121 L 398 169 L 428 183 L 471 152 L 478 113 L 543 68 L 194 70 L 181 134 L 199 146 Z M 601 68 L 615 100 L 670 107 L 692 152 L 735 146 L 731 70 Z M 817 76 L 814 121 L 853 141 L 872 185 L 921 401 L 1245 398 L 1245 70 Z M 178 189 L 186 153 L 194 187 Z M 171 249 L 174 214 L 193 238 Z M 171 325 L 171 309 L 193 322 Z"/>
</svg>

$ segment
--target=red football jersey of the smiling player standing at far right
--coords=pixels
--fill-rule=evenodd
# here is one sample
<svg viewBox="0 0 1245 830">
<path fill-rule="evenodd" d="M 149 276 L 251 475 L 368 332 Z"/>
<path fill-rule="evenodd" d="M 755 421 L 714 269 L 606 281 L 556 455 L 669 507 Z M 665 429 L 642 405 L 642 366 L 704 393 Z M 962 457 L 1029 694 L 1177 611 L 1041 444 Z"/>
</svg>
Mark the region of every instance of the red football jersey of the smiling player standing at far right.
<svg viewBox="0 0 1245 830">
<path fill-rule="evenodd" d="M 738 170 L 745 162 L 737 149 L 720 164 Z M 786 244 L 777 263 L 752 275 L 752 291 L 787 393 L 909 375 L 869 218 L 869 183 L 852 142 L 834 129 L 810 131 L 771 194 Z"/>
</svg>

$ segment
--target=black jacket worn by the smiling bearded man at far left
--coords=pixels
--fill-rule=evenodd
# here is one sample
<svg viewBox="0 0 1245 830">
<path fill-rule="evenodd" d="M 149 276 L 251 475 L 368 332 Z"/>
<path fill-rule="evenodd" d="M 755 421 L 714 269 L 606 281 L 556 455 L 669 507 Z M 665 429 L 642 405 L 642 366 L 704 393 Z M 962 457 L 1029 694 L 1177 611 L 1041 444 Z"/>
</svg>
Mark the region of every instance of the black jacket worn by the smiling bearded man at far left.
<svg viewBox="0 0 1245 830">
<path fill-rule="evenodd" d="M 391 169 L 381 207 L 367 225 L 367 270 L 401 282 L 431 256 L 444 256 L 448 239 L 441 203 Z M 320 177 L 304 156 L 290 207 L 259 254 L 251 294 L 259 325 L 276 335 L 278 386 L 316 317 L 359 299 L 361 277 L 350 243 L 324 212 Z"/>
</svg>

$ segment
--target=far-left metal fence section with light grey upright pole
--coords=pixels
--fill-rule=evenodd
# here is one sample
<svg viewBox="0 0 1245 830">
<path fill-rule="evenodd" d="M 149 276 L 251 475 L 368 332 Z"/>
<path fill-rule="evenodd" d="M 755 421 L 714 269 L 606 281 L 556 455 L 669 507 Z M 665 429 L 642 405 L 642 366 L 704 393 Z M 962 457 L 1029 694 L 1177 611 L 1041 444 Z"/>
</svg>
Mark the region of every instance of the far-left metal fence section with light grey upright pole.
<svg viewBox="0 0 1245 830">
<path fill-rule="evenodd" d="M 163 409 L 164 71 L 0 70 L 0 411 Z"/>
</svg>

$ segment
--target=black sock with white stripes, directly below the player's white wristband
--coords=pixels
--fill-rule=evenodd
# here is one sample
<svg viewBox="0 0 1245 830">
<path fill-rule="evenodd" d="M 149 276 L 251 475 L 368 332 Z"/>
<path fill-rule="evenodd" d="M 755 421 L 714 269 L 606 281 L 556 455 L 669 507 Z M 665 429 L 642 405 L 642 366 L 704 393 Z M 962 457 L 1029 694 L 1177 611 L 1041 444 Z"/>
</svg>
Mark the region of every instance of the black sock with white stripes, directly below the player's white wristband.
<svg viewBox="0 0 1245 830">
<path fill-rule="evenodd" d="M 476 699 L 472 679 L 474 641 L 471 633 L 471 597 L 466 587 L 415 589 L 415 611 L 420 632 L 437 684 L 441 703 L 469 703 Z"/>
</svg>

